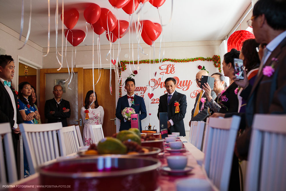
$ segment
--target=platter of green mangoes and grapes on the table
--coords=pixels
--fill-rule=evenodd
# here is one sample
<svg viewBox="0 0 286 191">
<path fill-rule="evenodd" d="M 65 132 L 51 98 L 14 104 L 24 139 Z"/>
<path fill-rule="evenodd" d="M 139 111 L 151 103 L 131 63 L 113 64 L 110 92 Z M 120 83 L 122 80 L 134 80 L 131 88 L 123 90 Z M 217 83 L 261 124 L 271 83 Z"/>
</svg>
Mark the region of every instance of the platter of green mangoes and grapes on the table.
<svg viewBox="0 0 286 191">
<path fill-rule="evenodd" d="M 123 130 L 112 135 L 112 137 L 105 137 L 98 144 L 91 144 L 87 151 L 79 152 L 80 156 L 92 155 L 136 155 L 136 156 L 151 156 L 157 157 L 162 148 L 153 146 L 142 146 L 141 141 L 155 140 L 151 135 L 142 135 L 140 131 L 135 128 Z"/>
</svg>

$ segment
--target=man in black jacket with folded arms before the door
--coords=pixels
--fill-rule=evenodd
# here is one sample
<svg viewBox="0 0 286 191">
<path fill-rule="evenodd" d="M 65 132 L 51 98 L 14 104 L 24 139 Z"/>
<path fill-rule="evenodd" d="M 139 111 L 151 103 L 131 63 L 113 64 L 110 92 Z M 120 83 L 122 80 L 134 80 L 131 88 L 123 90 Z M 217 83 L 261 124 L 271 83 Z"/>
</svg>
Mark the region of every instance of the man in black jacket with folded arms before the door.
<svg viewBox="0 0 286 191">
<path fill-rule="evenodd" d="M 45 117 L 48 123 L 61 122 L 63 127 L 67 126 L 67 118 L 71 116 L 69 102 L 62 99 L 63 88 L 61 85 L 55 85 L 53 88 L 55 97 L 45 103 Z"/>
</svg>

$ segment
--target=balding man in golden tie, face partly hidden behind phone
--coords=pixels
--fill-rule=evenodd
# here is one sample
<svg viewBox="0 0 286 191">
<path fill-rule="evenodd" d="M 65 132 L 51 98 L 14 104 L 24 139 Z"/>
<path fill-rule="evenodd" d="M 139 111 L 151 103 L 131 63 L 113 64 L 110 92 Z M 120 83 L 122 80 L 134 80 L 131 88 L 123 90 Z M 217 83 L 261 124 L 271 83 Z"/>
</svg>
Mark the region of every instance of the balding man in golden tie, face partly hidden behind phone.
<svg viewBox="0 0 286 191">
<path fill-rule="evenodd" d="M 208 72 L 206 70 L 200 70 L 196 74 L 196 83 L 198 84 L 199 87 L 200 87 L 200 82 L 202 80 L 202 76 L 208 76 Z M 211 97 L 213 99 L 217 97 L 214 91 L 211 92 Z M 196 102 L 194 104 L 194 108 L 192 109 L 191 121 L 203 121 L 204 118 L 208 116 L 208 107 L 206 106 L 208 104 L 208 99 L 206 98 L 206 102 L 204 103 L 204 109 L 200 111 L 202 107 L 202 102 L 200 101 L 201 98 L 206 98 L 206 94 L 203 89 L 196 96 Z M 191 124 L 191 121 L 189 122 L 189 126 Z"/>
</svg>

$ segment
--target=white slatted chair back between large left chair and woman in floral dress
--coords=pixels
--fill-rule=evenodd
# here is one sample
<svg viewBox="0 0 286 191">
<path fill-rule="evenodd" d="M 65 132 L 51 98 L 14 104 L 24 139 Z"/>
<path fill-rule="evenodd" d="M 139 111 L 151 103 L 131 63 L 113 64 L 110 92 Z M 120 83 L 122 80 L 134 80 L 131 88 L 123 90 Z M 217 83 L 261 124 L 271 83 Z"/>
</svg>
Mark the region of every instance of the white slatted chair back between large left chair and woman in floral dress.
<svg viewBox="0 0 286 191">
<path fill-rule="evenodd" d="M 63 140 L 65 143 L 66 154 L 70 155 L 79 151 L 80 144 L 78 142 L 78 135 L 74 125 L 63 127 Z"/>
</svg>

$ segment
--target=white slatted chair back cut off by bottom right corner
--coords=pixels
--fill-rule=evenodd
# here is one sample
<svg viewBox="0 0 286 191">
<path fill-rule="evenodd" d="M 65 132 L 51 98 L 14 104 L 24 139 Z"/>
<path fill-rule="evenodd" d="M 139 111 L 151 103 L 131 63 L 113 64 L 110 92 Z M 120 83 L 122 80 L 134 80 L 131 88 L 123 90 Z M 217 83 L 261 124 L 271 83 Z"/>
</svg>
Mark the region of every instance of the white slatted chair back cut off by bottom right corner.
<svg viewBox="0 0 286 191">
<path fill-rule="evenodd" d="M 286 190 L 286 115 L 256 114 L 245 190 Z"/>
</svg>

